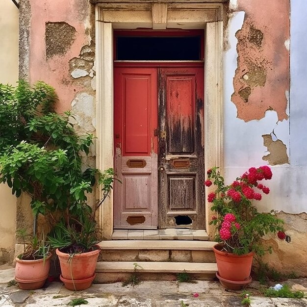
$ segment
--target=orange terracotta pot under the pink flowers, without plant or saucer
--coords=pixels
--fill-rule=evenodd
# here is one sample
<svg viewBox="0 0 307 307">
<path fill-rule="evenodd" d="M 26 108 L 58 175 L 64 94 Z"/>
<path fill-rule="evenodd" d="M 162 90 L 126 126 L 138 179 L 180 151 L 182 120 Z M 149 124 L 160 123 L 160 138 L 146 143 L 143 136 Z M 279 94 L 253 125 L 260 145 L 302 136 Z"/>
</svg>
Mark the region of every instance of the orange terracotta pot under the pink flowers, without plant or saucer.
<svg viewBox="0 0 307 307">
<path fill-rule="evenodd" d="M 254 252 L 246 255 L 234 255 L 222 251 L 223 245 L 216 244 L 213 251 L 219 276 L 227 281 L 250 280 Z"/>
</svg>

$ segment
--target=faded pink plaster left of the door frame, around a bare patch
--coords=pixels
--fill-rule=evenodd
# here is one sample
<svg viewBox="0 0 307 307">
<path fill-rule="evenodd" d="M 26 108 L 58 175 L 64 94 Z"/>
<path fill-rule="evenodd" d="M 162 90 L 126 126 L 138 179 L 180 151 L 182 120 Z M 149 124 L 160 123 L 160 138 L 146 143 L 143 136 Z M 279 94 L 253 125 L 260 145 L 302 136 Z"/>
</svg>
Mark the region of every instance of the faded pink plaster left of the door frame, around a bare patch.
<svg viewBox="0 0 307 307">
<path fill-rule="evenodd" d="M 69 61 L 78 57 L 82 46 L 89 45 L 86 19 L 90 14 L 84 0 L 30 0 L 31 24 L 29 43 L 29 80 L 43 80 L 56 89 L 57 112 L 71 109 L 71 102 L 82 85 L 73 84 Z M 46 59 L 45 28 L 47 22 L 65 22 L 76 29 L 76 39 L 64 55 Z"/>
</svg>

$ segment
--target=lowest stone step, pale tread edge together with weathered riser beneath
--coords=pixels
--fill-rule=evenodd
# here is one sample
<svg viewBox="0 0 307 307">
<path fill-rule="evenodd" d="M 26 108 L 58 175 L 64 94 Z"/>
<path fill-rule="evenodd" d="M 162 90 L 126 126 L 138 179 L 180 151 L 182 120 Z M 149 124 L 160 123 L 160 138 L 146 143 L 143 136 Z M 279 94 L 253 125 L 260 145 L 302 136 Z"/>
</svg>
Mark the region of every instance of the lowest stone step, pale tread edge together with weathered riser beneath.
<svg viewBox="0 0 307 307">
<path fill-rule="evenodd" d="M 192 278 L 198 280 L 213 279 L 217 272 L 217 265 L 198 262 L 100 261 L 96 265 L 95 280 L 97 282 L 126 281 L 132 274 L 137 274 L 140 280 L 176 280 L 177 274 L 183 272 L 189 273 Z"/>
</svg>

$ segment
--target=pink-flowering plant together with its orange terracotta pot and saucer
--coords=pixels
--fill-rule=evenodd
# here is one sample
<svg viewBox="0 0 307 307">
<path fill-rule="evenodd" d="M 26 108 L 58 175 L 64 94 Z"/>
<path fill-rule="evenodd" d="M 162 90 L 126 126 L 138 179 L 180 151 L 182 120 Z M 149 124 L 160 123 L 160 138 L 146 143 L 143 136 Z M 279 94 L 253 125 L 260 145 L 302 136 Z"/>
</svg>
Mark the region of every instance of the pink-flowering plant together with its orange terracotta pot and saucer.
<svg viewBox="0 0 307 307">
<path fill-rule="evenodd" d="M 211 210 L 216 212 L 210 224 L 215 226 L 215 240 L 219 242 L 213 248 L 217 277 L 230 289 L 240 289 L 251 281 L 254 255 L 263 256 L 266 252 L 261 241 L 265 234 L 278 233 L 279 238 L 285 237 L 283 221 L 273 211 L 258 212 L 254 205 L 254 201 L 262 198 L 259 192 L 270 192 L 259 181 L 271 178 L 272 171 L 268 166 L 252 167 L 230 185 L 225 185 L 217 167 L 207 171 L 205 185 L 215 185 L 215 190 L 208 194 L 208 202 L 213 204 Z"/>
</svg>

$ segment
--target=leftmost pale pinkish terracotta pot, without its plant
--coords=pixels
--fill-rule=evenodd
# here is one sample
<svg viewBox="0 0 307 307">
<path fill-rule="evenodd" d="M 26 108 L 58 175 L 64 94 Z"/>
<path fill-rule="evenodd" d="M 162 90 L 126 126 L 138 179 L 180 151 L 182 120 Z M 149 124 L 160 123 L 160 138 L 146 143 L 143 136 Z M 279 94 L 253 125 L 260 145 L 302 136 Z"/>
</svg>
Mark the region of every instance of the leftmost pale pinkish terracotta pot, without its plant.
<svg viewBox="0 0 307 307">
<path fill-rule="evenodd" d="M 50 257 L 37 260 L 22 260 L 16 257 L 15 280 L 23 290 L 41 288 L 49 275 Z"/>
</svg>

